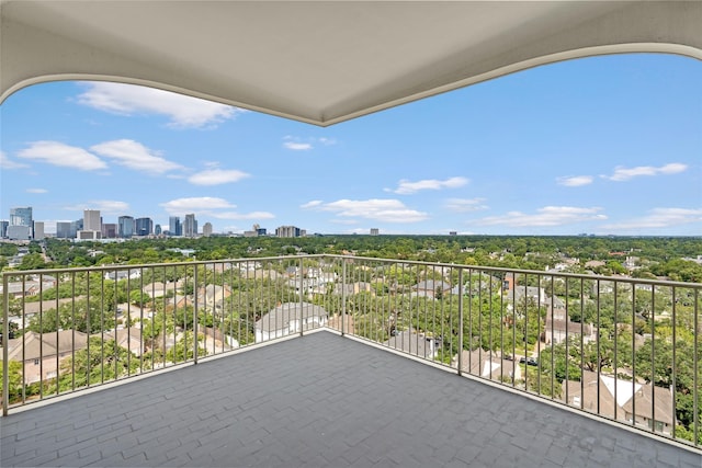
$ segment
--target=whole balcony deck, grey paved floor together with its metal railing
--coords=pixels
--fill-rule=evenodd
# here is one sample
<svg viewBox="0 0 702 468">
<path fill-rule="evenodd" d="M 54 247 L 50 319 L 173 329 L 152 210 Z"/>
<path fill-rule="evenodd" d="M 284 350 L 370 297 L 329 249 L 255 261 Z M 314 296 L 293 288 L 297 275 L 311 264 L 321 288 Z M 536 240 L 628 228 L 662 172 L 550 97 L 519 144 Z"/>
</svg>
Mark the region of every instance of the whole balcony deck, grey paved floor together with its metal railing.
<svg viewBox="0 0 702 468">
<path fill-rule="evenodd" d="M 299 255 L 3 290 L 2 466 L 702 463 L 700 284 Z"/>
</svg>

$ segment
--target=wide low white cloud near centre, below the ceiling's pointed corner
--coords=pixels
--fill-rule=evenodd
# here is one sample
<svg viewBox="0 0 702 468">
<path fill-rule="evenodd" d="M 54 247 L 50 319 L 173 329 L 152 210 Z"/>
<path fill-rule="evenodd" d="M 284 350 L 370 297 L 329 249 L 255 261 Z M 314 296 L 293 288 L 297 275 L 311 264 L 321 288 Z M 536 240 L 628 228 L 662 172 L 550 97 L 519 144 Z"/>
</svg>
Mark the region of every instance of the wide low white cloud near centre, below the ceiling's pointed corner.
<svg viewBox="0 0 702 468">
<path fill-rule="evenodd" d="M 303 207 L 332 212 L 346 218 L 359 217 L 385 222 L 418 222 L 429 218 L 423 212 L 410 209 L 398 199 L 339 199 L 331 203 L 310 202 Z"/>
</svg>

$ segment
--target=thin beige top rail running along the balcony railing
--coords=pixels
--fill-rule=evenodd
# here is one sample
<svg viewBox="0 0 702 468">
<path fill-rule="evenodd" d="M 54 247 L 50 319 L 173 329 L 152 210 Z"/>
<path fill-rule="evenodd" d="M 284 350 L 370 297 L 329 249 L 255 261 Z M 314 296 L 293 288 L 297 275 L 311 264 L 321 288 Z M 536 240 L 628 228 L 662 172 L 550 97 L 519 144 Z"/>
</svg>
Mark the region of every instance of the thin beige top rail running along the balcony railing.
<svg viewBox="0 0 702 468">
<path fill-rule="evenodd" d="M 486 266 L 486 265 L 471 265 L 471 264 L 460 264 L 460 263 L 441 263 L 441 262 L 426 262 L 418 260 L 403 260 L 403 259 L 383 259 L 383 258 L 374 258 L 374 256 L 358 256 L 358 255 L 341 255 L 341 254 L 329 254 L 329 253 L 318 253 L 318 254 L 305 254 L 305 255 L 278 255 L 278 256 L 246 256 L 239 259 L 220 259 L 220 260 L 193 260 L 193 261 L 184 261 L 184 262 L 166 262 L 166 263 L 144 263 L 144 264 L 117 264 L 117 265 L 102 265 L 102 266 L 80 266 L 80 267 L 69 267 L 69 269 L 45 269 L 45 270 L 12 270 L 12 271 L 3 271 L 2 277 L 5 276 L 29 276 L 29 275 L 52 275 L 52 274 L 63 274 L 63 273 L 77 273 L 77 272 L 89 272 L 89 273 L 99 273 L 99 272 L 113 272 L 115 270 L 124 271 L 124 270 L 139 270 L 139 269 L 156 269 L 156 267 L 181 267 L 181 266 L 199 266 L 199 265 L 208 265 L 208 264 L 222 264 L 222 263 L 244 263 L 244 262 L 265 262 L 265 261 L 282 261 L 282 260 L 299 260 L 299 259 L 347 259 L 347 260 L 361 260 L 361 261 L 373 261 L 380 263 L 397 263 L 397 264 L 407 264 L 407 265 L 419 265 L 419 266 L 441 266 L 448 269 L 462 269 L 462 270 L 476 270 L 482 272 L 496 272 L 496 273 L 516 273 L 522 275 L 539 275 L 542 277 L 547 276 L 557 276 L 557 277 L 566 277 L 566 278 L 576 278 L 576 279 L 588 279 L 588 281 L 600 281 L 600 282 L 616 282 L 616 283 L 629 283 L 636 285 L 652 285 L 652 286 L 673 286 L 673 287 L 688 287 L 694 289 L 702 289 L 702 283 L 687 283 L 687 282 L 676 282 L 676 281 L 667 281 L 667 279 L 648 279 L 648 278 L 632 278 L 632 277 L 621 277 L 621 276 L 604 276 L 604 275 L 595 275 L 595 274 L 586 274 L 586 273 L 566 273 L 566 272 L 546 272 L 541 270 L 522 270 L 522 269 L 513 269 L 507 266 Z"/>
</svg>

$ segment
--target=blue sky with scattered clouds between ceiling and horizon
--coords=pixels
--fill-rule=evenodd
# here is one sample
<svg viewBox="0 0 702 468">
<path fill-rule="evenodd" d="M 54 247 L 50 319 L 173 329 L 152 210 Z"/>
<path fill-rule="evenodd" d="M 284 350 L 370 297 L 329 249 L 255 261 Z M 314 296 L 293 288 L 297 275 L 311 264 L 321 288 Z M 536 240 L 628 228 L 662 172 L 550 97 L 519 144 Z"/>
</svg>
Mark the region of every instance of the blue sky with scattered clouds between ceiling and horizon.
<svg viewBox="0 0 702 468">
<path fill-rule="evenodd" d="M 702 235 L 702 62 L 570 60 L 328 128 L 114 83 L 1 112 L 0 219 L 309 233 Z"/>
</svg>

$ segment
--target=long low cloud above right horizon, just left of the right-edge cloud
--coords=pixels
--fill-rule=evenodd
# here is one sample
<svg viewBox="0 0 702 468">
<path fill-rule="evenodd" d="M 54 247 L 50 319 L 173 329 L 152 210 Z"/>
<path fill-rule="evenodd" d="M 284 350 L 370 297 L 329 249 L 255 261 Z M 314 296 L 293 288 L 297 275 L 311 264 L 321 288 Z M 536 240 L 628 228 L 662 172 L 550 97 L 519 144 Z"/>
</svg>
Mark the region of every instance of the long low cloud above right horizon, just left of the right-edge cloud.
<svg viewBox="0 0 702 468">
<path fill-rule="evenodd" d="M 509 227 L 539 227 L 539 226 L 563 226 L 573 222 L 601 221 L 607 219 L 600 214 L 602 208 L 579 208 L 576 206 L 545 206 L 539 208 L 535 214 L 529 215 L 521 212 L 510 212 L 503 216 L 489 216 L 478 219 L 477 222 L 484 226 L 509 226 Z"/>
</svg>

